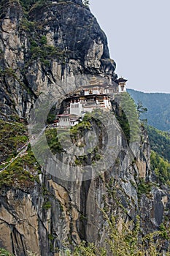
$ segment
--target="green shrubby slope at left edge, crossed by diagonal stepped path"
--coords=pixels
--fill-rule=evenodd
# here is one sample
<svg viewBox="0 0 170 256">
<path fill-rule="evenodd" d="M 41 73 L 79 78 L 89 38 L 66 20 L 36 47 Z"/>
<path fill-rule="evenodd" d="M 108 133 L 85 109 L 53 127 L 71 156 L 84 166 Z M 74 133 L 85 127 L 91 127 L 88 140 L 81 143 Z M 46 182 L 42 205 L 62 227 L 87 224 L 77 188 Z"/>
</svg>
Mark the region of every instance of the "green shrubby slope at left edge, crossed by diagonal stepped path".
<svg viewBox="0 0 170 256">
<path fill-rule="evenodd" d="M 0 170 L 6 167 L 0 172 L 0 188 L 26 188 L 34 186 L 34 181 L 39 182 L 38 174 L 41 167 L 36 162 L 31 147 L 26 146 L 28 142 L 26 124 L 1 120 L 0 140 L 1 160 L 3 159 Z M 26 151 L 18 156 L 24 147 Z"/>
</svg>

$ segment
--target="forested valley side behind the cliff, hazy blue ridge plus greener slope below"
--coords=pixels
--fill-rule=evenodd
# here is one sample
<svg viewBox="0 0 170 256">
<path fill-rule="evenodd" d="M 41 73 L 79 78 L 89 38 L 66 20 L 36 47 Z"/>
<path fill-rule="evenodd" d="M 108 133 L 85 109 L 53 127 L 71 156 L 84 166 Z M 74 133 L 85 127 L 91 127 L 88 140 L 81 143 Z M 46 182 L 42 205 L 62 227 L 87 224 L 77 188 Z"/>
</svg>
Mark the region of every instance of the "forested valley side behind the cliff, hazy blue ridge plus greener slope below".
<svg viewBox="0 0 170 256">
<path fill-rule="evenodd" d="M 150 140 L 150 168 L 161 184 L 170 184 L 170 94 L 143 93 L 128 89 L 136 106 L 142 105 L 147 112 L 140 113 L 147 119 L 147 133 Z M 152 125 L 152 126 L 151 126 Z M 158 128 L 158 129 L 157 129 Z"/>
</svg>

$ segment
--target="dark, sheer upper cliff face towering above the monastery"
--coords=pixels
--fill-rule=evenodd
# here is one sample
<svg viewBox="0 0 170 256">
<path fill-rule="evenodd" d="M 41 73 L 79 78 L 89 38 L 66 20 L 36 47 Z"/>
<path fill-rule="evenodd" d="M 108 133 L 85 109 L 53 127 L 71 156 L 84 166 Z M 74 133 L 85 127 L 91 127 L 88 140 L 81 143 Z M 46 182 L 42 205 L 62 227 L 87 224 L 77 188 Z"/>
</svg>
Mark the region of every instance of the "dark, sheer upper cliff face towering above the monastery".
<svg viewBox="0 0 170 256">
<path fill-rule="evenodd" d="M 1 10 L 3 113 L 28 117 L 41 91 L 55 90 L 68 77 L 80 86 L 74 75 L 115 80 L 107 37 L 82 1 L 38 1 L 27 14 L 18 1 L 1 1 Z"/>
</svg>

